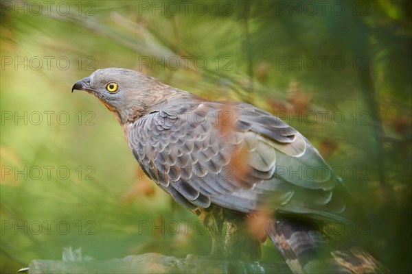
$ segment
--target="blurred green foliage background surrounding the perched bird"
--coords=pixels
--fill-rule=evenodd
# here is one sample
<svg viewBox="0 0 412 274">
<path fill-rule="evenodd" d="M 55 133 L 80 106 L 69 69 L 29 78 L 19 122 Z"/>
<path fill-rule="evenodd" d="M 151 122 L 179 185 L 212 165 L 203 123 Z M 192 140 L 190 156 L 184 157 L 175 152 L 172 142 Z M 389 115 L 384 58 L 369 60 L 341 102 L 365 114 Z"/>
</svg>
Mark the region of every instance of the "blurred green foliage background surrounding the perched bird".
<svg viewBox="0 0 412 274">
<path fill-rule="evenodd" d="M 281 116 L 365 208 L 345 242 L 411 272 L 411 32 L 409 1 L 1 1 L 0 272 L 65 247 L 209 252 L 113 115 L 71 94 L 104 67 Z"/>
</svg>

